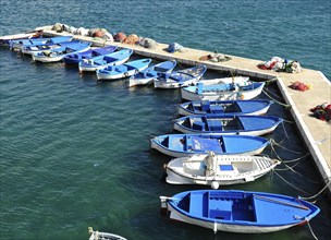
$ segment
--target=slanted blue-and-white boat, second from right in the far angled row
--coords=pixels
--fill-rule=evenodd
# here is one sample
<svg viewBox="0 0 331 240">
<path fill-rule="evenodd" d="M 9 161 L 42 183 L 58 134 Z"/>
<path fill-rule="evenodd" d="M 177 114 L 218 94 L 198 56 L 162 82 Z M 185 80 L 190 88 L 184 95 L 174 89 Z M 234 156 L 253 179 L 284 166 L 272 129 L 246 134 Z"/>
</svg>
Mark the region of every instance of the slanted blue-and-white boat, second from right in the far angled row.
<svg viewBox="0 0 331 240">
<path fill-rule="evenodd" d="M 132 87 L 149 84 L 158 76 L 158 73 L 170 73 L 175 65 L 176 60 L 159 62 L 131 76 L 127 85 Z"/>
</svg>

